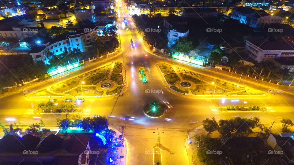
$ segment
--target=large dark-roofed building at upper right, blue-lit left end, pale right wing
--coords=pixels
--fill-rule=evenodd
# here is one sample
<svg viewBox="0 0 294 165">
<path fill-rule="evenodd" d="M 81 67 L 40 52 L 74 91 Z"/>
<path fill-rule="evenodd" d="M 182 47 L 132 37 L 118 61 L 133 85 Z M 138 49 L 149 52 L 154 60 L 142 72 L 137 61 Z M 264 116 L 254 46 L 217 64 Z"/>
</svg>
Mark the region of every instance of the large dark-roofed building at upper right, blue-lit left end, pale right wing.
<svg viewBox="0 0 294 165">
<path fill-rule="evenodd" d="M 283 18 L 280 16 L 269 15 L 264 10 L 255 10 L 243 6 L 233 10 L 231 18 L 239 20 L 241 24 L 247 24 L 254 28 L 266 24 L 282 24 L 283 22 Z"/>
</svg>

